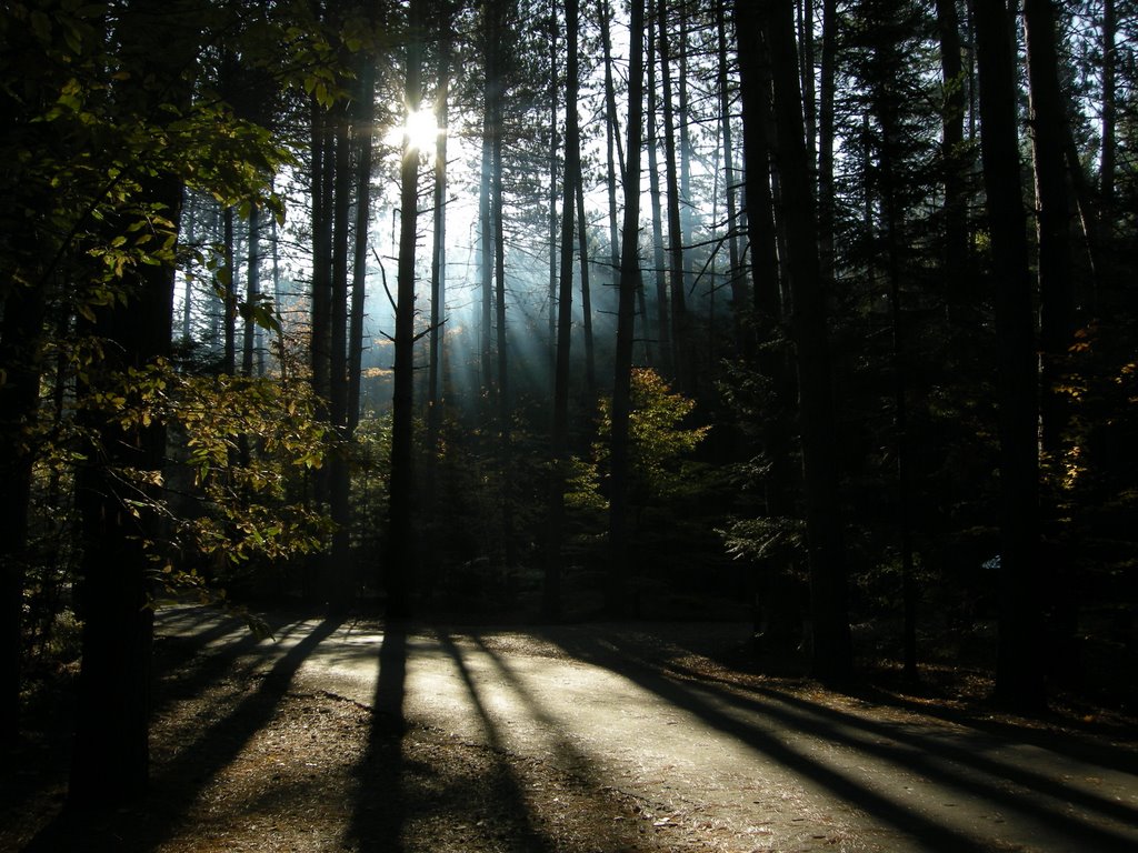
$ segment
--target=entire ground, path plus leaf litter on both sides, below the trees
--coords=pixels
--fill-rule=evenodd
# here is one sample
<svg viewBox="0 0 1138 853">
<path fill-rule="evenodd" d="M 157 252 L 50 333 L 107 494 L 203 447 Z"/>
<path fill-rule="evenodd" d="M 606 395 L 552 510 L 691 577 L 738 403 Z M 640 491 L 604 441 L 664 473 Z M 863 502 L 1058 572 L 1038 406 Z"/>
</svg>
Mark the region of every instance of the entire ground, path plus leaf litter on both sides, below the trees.
<svg viewBox="0 0 1138 853">
<path fill-rule="evenodd" d="M 750 671 L 739 623 L 273 632 L 159 614 L 151 794 L 61 817 L 46 705 L 0 850 L 1138 850 L 1135 720 L 998 714 L 976 673 L 838 694 Z"/>
</svg>

